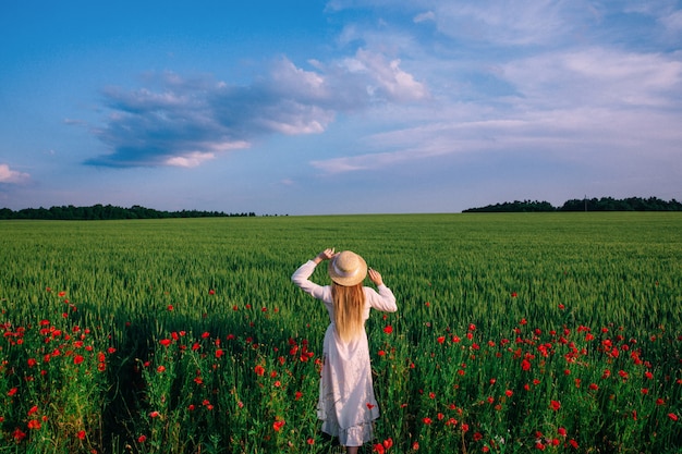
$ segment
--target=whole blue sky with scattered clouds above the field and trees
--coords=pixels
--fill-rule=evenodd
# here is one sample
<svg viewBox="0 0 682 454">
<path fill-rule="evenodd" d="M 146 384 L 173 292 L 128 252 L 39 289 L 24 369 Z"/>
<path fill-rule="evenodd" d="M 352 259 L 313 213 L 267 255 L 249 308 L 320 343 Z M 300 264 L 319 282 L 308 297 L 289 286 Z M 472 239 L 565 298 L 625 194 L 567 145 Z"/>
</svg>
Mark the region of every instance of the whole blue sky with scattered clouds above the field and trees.
<svg viewBox="0 0 682 454">
<path fill-rule="evenodd" d="M 682 2 L 4 1 L 0 207 L 682 199 Z"/>
</svg>

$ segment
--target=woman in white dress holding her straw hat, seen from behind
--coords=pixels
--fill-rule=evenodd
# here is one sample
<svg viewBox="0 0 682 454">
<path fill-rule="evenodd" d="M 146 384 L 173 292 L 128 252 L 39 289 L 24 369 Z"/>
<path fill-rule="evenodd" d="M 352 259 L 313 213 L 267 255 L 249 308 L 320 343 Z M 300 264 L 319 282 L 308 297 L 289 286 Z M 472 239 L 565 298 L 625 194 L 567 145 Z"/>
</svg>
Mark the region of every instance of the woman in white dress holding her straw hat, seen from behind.
<svg viewBox="0 0 682 454">
<path fill-rule="evenodd" d="M 321 286 L 308 278 L 324 260 L 329 260 L 332 283 Z M 317 417 L 322 420 L 322 432 L 338 437 L 349 454 L 357 453 L 360 446 L 372 441 L 372 424 L 379 417 L 365 320 L 370 308 L 398 310 L 395 296 L 383 285 L 381 274 L 369 269 L 369 279 L 377 291 L 363 286 L 366 275 L 367 263 L 361 256 L 350 250 L 334 254 L 333 248 L 328 248 L 291 277 L 304 292 L 321 299 L 329 312 L 331 323 L 322 347 Z"/>
</svg>

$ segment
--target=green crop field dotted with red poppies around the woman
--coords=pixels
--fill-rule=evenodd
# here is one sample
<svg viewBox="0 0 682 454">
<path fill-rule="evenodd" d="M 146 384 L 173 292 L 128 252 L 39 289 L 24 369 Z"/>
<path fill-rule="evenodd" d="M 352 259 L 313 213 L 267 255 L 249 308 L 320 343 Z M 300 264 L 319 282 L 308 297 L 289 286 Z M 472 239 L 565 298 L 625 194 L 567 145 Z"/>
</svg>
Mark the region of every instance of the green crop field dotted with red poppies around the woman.
<svg viewBox="0 0 682 454">
<path fill-rule="evenodd" d="M 367 452 L 682 451 L 682 216 L 516 213 L 0 222 L 0 453 L 338 452 L 326 247 L 398 298 Z"/>
</svg>

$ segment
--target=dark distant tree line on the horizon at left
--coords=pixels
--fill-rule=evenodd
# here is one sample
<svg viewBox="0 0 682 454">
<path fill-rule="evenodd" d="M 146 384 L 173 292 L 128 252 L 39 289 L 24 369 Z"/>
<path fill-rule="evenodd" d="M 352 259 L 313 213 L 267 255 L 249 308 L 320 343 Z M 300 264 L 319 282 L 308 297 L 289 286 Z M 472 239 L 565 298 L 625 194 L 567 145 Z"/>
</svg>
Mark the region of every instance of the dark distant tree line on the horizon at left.
<svg viewBox="0 0 682 454">
<path fill-rule="evenodd" d="M 111 205 L 94 205 L 92 207 L 52 207 L 25 208 L 12 211 L 0 208 L 0 219 L 54 219 L 66 221 L 114 220 L 114 219 L 167 219 L 167 218 L 226 218 L 226 217 L 255 217 L 254 212 L 224 213 L 219 211 L 159 211 L 151 208 L 134 205 L 131 208 L 114 207 Z"/>
</svg>

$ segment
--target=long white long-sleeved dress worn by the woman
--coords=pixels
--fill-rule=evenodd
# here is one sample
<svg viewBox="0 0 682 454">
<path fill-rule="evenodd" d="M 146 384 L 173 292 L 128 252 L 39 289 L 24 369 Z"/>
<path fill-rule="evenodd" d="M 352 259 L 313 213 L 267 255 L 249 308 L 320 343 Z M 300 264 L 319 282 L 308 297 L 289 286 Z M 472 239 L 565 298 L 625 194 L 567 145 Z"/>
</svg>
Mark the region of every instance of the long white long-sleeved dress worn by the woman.
<svg viewBox="0 0 682 454">
<path fill-rule="evenodd" d="M 299 268 L 291 280 L 304 292 L 321 299 L 329 312 L 331 323 L 325 333 L 322 371 L 319 383 L 317 417 L 322 420 L 322 431 L 339 438 L 345 446 L 361 446 L 372 441 L 372 421 L 379 417 L 379 406 L 374 396 L 372 366 L 367 333 L 345 343 L 341 341 L 333 322 L 333 302 L 330 285 L 317 285 L 308 280 L 316 263 L 308 260 Z M 395 296 L 386 285 L 377 291 L 363 287 L 365 310 L 363 319 L 369 318 L 369 309 L 386 312 L 398 310 Z"/>
</svg>

